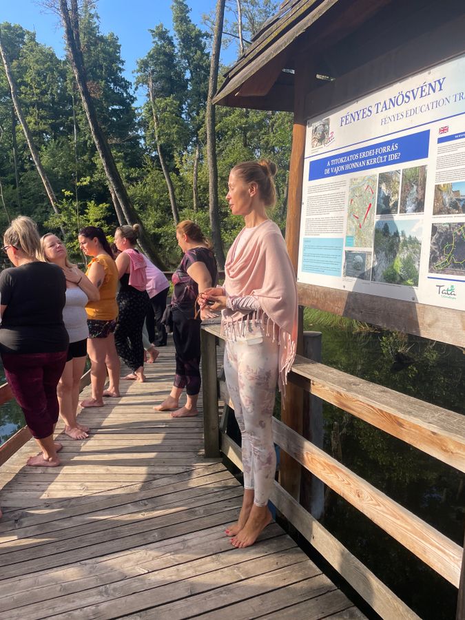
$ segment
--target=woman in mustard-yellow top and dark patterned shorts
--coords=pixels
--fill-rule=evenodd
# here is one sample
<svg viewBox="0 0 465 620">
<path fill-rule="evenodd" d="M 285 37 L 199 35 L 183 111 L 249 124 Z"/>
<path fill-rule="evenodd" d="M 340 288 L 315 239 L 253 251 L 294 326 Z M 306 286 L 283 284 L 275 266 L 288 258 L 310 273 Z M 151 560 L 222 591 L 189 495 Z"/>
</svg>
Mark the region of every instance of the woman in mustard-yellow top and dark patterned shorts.
<svg viewBox="0 0 465 620">
<path fill-rule="evenodd" d="M 81 406 L 103 407 L 103 396 L 119 396 L 121 364 L 114 346 L 114 329 L 118 316 L 118 269 L 101 228 L 83 228 L 78 240 L 84 254 L 93 257 L 85 275 L 100 291 L 100 300 L 89 302 L 85 307 L 89 327 L 87 353 L 91 362 L 92 398 L 83 400 Z M 104 390 L 107 370 L 110 384 L 108 389 Z"/>
</svg>

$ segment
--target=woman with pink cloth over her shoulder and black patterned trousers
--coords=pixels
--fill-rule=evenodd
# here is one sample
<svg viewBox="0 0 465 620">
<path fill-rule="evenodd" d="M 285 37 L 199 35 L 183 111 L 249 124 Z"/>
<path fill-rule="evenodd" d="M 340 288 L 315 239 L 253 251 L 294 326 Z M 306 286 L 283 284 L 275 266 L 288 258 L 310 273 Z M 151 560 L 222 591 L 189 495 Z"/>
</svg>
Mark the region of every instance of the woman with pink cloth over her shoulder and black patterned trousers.
<svg viewBox="0 0 465 620">
<path fill-rule="evenodd" d="M 114 233 L 114 242 L 121 254 L 116 257 L 116 267 L 120 281 L 118 302 L 118 321 L 114 331 L 114 344 L 120 358 L 129 366 L 127 380 L 145 381 L 144 347 L 142 329 L 149 308 L 146 265 L 143 255 L 135 246 L 139 225 L 120 226 Z"/>
</svg>

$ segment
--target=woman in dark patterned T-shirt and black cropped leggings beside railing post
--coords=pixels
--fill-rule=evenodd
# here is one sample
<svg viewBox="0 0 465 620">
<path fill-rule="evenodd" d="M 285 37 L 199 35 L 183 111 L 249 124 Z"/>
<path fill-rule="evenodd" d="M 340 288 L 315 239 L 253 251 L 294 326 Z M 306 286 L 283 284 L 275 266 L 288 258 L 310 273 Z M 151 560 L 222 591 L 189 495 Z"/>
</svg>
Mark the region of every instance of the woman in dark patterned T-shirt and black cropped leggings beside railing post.
<svg viewBox="0 0 465 620">
<path fill-rule="evenodd" d="M 178 269 L 173 274 L 172 296 L 173 339 L 176 347 L 176 375 L 172 391 L 156 411 L 172 411 L 172 417 L 197 415 L 200 391 L 200 322 L 195 318 L 195 304 L 199 293 L 216 286 L 216 260 L 207 238 L 191 220 L 176 227 L 176 239 L 184 252 Z M 187 402 L 179 407 L 179 397 L 186 389 Z"/>
</svg>

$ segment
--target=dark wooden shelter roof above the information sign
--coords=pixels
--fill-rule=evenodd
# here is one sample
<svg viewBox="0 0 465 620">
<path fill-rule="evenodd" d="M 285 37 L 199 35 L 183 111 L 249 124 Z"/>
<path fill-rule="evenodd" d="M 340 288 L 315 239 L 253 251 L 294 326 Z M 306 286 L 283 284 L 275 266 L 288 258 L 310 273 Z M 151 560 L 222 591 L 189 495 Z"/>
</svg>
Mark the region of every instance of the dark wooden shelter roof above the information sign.
<svg viewBox="0 0 465 620">
<path fill-rule="evenodd" d="M 293 112 L 299 62 L 337 80 L 463 16 L 462 0 L 285 0 L 225 73 L 214 103 Z M 324 86 L 316 79 L 313 90 Z"/>
</svg>

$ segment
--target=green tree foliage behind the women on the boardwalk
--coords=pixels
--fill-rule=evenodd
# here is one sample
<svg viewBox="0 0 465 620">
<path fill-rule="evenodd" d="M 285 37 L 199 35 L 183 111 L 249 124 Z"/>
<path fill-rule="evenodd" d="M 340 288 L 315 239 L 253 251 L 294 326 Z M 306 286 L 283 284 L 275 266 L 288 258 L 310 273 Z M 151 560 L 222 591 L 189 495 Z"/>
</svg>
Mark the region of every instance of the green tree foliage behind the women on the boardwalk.
<svg viewBox="0 0 465 620">
<path fill-rule="evenodd" d="M 268 0 L 243 2 L 247 36 L 269 17 L 272 4 Z M 163 260 L 175 266 L 180 251 L 167 185 L 158 161 L 152 107 L 147 96 L 140 110 L 134 108 L 132 85 L 123 76 L 118 39 L 113 33 L 101 32 L 93 6 L 83 3 L 80 31 L 96 112 L 138 214 Z M 211 38 L 209 32 L 192 22 L 188 0 L 173 0 L 172 12 L 173 34 L 161 24 L 151 28 L 152 47 L 138 62 L 134 84 L 147 92 L 149 76 L 152 78 L 158 147 L 172 178 L 180 218 L 198 221 L 209 234 L 205 105 L 210 61 L 207 45 Z M 112 234 L 117 225 L 116 214 L 109 206 L 112 200 L 105 173 L 68 61 L 57 58 L 50 48 L 37 41 L 33 32 L 19 25 L 3 24 L 2 34 L 34 143 L 59 198 L 60 209 L 60 216 L 53 214 L 21 127 L 16 124 L 13 129 L 8 84 L 0 71 L 0 178 L 10 216 L 31 216 L 41 232 L 59 231 L 63 225 L 70 243 L 75 243 L 76 231 L 85 223 L 102 225 Z M 231 216 L 225 200 L 229 171 L 239 161 L 265 157 L 276 161 L 278 200 L 270 216 L 284 231 L 292 117 L 282 112 L 225 107 L 218 107 L 216 114 L 221 230 L 228 249 L 243 225 L 242 218 Z M 12 161 L 13 131 L 17 138 L 19 188 Z M 194 211 L 197 148 L 198 210 Z M 7 221 L 6 214 L 0 211 L 0 224 L 6 225 Z"/>
</svg>

